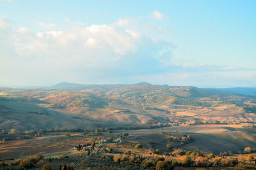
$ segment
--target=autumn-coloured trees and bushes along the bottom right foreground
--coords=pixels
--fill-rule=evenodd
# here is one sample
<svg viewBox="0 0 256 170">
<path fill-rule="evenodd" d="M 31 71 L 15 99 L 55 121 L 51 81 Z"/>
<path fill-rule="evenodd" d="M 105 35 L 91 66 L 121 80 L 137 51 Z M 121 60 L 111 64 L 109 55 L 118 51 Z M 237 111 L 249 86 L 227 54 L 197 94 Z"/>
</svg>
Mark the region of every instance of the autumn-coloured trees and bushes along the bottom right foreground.
<svg viewBox="0 0 256 170">
<path fill-rule="evenodd" d="M 140 146 L 140 143 L 138 143 L 139 148 Z M 252 152 L 252 148 L 244 148 L 244 153 L 250 152 Z M 113 160 L 118 162 L 118 164 L 134 164 L 145 169 L 173 169 L 173 167 L 176 166 L 256 168 L 256 157 L 252 155 L 248 155 L 246 159 L 237 159 L 234 157 L 225 157 L 224 155 L 205 154 L 182 149 L 173 150 L 171 154 L 172 157 L 157 155 L 156 153 L 157 152 L 152 152 L 150 157 L 142 157 L 141 155 L 127 152 L 125 154 L 114 155 Z M 177 157 L 177 159 L 175 159 L 175 157 Z"/>
</svg>

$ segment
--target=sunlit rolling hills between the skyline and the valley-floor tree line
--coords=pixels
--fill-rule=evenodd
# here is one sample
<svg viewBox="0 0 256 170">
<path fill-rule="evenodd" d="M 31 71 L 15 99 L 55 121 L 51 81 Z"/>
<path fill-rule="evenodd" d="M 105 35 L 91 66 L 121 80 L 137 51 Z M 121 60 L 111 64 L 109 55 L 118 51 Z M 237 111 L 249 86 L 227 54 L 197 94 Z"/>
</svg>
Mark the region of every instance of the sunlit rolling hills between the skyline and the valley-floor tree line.
<svg viewBox="0 0 256 170">
<path fill-rule="evenodd" d="M 59 83 L 0 89 L 0 129 L 138 127 L 256 120 L 255 97 L 223 89 Z"/>
</svg>

